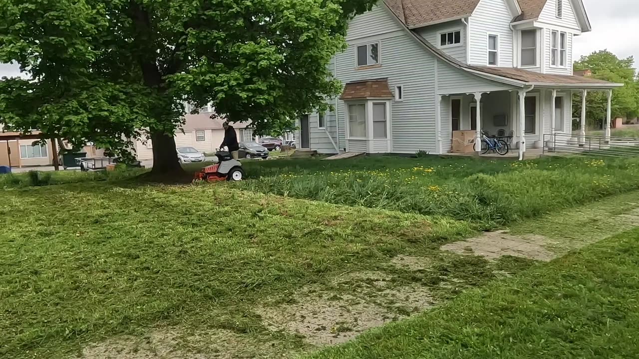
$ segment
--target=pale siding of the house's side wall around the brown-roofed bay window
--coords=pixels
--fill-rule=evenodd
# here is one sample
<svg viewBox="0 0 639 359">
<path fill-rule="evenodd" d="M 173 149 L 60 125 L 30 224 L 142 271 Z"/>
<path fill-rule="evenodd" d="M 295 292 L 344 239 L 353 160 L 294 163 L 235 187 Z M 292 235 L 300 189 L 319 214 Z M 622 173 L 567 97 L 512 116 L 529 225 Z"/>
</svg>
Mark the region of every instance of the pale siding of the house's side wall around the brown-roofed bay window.
<svg viewBox="0 0 639 359">
<path fill-rule="evenodd" d="M 392 24 L 389 24 L 389 19 Z M 369 37 L 349 41 L 348 48 L 337 54 L 337 78 L 345 83 L 386 77 L 393 92 L 395 86 L 403 86 L 403 101 L 391 103 L 391 152 L 435 151 L 435 57 L 395 21 L 387 10 L 378 6 L 356 17 L 350 24 L 349 38 L 353 38 L 352 33 L 366 33 Z M 397 31 L 389 31 L 384 26 Z M 380 41 L 381 66 L 357 70 L 355 46 L 369 40 Z M 345 109 L 344 102 L 338 101 L 341 148 L 346 146 Z M 362 147 L 359 143 L 350 142 L 349 151 L 355 151 L 355 148 L 366 150 L 366 144 Z"/>
</svg>

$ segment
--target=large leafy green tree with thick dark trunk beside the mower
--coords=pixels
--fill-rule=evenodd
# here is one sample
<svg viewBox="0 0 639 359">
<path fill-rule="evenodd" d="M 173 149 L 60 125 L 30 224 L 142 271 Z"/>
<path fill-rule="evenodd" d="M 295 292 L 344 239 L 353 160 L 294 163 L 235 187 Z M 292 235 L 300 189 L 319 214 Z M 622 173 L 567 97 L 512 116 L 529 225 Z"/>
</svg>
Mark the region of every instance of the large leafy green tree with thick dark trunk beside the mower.
<svg viewBox="0 0 639 359">
<path fill-rule="evenodd" d="M 183 102 L 256 132 L 290 128 L 339 91 L 328 68 L 373 0 L 0 0 L 0 121 L 126 151 L 153 141 L 153 173 L 180 172 Z"/>
</svg>

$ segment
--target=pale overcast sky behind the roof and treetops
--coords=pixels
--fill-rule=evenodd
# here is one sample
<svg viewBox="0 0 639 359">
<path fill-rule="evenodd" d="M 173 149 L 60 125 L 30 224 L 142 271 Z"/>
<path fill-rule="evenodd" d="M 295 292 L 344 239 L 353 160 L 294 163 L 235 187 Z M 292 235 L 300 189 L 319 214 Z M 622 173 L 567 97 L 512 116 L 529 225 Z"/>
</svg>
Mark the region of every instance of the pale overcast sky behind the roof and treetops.
<svg viewBox="0 0 639 359">
<path fill-rule="evenodd" d="M 575 60 L 590 52 L 608 49 L 620 58 L 635 56 L 639 68 L 639 0 L 583 0 L 592 31 L 576 36 Z M 17 76 L 15 65 L 0 64 L 0 77 Z"/>
</svg>

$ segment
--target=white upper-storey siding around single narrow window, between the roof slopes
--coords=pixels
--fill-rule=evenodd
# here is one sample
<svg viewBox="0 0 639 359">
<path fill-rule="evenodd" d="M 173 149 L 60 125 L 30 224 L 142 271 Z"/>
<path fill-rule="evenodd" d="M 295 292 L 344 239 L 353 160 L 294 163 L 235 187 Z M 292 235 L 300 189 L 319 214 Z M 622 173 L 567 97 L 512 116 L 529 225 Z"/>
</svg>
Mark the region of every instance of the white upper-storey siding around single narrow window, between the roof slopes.
<svg viewBox="0 0 639 359">
<path fill-rule="evenodd" d="M 499 36 L 498 66 L 512 66 L 512 14 L 504 0 L 481 0 L 470 17 L 470 64 L 488 65 L 488 34 Z"/>
</svg>

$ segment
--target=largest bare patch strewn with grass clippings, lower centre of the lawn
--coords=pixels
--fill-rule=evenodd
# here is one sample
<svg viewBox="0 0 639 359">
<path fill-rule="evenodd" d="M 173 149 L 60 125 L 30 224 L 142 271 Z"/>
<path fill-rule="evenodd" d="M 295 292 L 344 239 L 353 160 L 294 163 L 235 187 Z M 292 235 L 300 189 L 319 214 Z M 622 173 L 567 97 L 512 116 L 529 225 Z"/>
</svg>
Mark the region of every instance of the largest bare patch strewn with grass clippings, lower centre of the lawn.
<svg viewBox="0 0 639 359">
<path fill-rule="evenodd" d="M 365 281 L 348 282 L 350 279 Z M 373 282 L 367 281 L 371 279 Z M 297 333 L 310 344 L 326 346 L 433 305 L 426 287 L 391 287 L 389 280 L 385 273 L 375 271 L 349 273 L 334 280 L 337 286 L 350 284 L 348 291 L 307 287 L 293 296 L 295 303 L 264 307 L 259 314 L 270 330 Z"/>
</svg>

